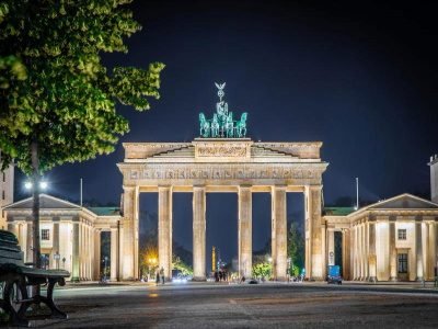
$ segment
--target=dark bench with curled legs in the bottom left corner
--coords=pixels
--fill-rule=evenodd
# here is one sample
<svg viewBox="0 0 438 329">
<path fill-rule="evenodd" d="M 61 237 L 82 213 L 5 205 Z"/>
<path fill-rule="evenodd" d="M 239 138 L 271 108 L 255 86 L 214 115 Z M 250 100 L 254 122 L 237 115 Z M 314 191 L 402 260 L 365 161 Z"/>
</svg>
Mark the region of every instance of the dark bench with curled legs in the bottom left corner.
<svg viewBox="0 0 438 329">
<path fill-rule="evenodd" d="M 65 270 L 42 270 L 26 266 L 23 262 L 23 251 L 16 237 L 7 230 L 0 230 L 0 283 L 3 284 L 0 308 L 9 315 L 13 325 L 28 326 L 26 310 L 31 305 L 44 303 L 50 309 L 50 315 L 44 318 L 67 319 L 67 314 L 56 307 L 54 288 L 56 284 L 65 285 L 70 273 Z M 27 286 L 47 285 L 47 294 L 28 296 Z"/>
</svg>

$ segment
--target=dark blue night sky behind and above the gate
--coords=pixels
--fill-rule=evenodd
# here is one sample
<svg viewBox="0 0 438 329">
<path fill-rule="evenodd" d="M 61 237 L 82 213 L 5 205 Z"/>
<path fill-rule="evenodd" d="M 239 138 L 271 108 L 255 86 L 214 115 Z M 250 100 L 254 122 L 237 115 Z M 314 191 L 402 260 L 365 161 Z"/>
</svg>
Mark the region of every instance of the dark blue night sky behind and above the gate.
<svg viewBox="0 0 438 329">
<path fill-rule="evenodd" d="M 214 82 L 226 81 L 229 109 L 249 112 L 254 140 L 324 143 L 325 204 L 355 198 L 356 177 L 364 201 L 404 192 L 429 197 L 427 162 L 438 152 L 438 27 L 429 2 L 136 2 L 143 30 L 127 41 L 128 54 L 104 60 L 164 63 L 161 99 L 145 113 L 120 105 L 130 133 L 116 151 L 54 169 L 49 193 L 78 201 L 83 178 L 84 198 L 118 204 L 122 141 L 191 141 L 198 113 L 215 111 Z M 18 197 L 25 195 L 22 181 Z M 269 195 L 254 196 L 254 204 L 257 249 L 270 235 Z M 289 195 L 288 207 L 301 220 L 302 196 Z M 140 208 L 157 212 L 157 196 L 142 195 Z M 192 249 L 191 194 L 175 196 L 174 237 Z M 208 195 L 207 254 L 211 245 L 226 259 L 237 253 L 234 194 Z"/>
</svg>

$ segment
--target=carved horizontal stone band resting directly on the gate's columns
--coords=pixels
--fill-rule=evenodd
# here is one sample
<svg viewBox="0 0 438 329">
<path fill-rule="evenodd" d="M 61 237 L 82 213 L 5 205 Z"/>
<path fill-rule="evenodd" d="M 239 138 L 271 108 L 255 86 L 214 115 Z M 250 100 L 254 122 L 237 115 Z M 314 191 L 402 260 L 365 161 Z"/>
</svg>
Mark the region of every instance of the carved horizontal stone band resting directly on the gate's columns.
<svg viewBox="0 0 438 329">
<path fill-rule="evenodd" d="M 321 185 L 328 163 L 118 163 L 126 186 Z"/>
</svg>

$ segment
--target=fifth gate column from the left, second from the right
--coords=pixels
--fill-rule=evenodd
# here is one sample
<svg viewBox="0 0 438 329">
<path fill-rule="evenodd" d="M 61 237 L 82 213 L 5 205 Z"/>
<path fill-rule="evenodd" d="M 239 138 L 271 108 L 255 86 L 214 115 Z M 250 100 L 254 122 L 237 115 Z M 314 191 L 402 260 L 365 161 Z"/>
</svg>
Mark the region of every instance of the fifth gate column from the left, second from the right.
<svg viewBox="0 0 438 329">
<path fill-rule="evenodd" d="M 286 186 L 273 186 L 273 209 L 275 228 L 275 258 L 273 257 L 274 279 L 287 280 L 287 218 L 286 218 Z"/>
</svg>

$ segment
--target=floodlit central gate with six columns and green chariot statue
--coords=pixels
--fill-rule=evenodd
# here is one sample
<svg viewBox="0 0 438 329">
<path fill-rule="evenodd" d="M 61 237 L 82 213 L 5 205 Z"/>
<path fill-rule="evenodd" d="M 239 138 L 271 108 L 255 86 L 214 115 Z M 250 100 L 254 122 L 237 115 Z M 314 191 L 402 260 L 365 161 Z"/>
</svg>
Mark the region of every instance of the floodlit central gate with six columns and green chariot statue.
<svg viewBox="0 0 438 329">
<path fill-rule="evenodd" d="M 252 276 L 252 194 L 272 195 L 273 276 L 287 277 L 286 193 L 304 194 L 306 275 L 325 276 L 325 227 L 321 216 L 322 143 L 266 143 L 246 138 L 246 113 L 233 121 L 222 101 L 208 121 L 199 114 L 200 137 L 192 143 L 125 143 L 123 219 L 119 227 L 119 276 L 139 276 L 139 194 L 158 193 L 159 268 L 172 275 L 172 195 L 193 193 L 194 280 L 206 280 L 206 194 L 237 193 L 239 197 L 239 273 Z M 233 228 L 230 228 L 233 229 Z"/>
</svg>

